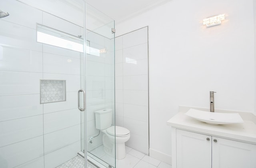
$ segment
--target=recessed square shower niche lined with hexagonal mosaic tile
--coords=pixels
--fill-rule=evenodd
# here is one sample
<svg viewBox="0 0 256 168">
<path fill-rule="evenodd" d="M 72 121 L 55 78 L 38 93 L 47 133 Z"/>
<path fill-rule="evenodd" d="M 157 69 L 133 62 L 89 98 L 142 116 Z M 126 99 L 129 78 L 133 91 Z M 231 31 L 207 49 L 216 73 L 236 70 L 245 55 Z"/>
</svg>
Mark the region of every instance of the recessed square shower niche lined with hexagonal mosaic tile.
<svg viewBox="0 0 256 168">
<path fill-rule="evenodd" d="M 66 80 L 40 80 L 40 104 L 66 101 Z"/>
</svg>

